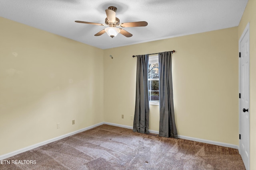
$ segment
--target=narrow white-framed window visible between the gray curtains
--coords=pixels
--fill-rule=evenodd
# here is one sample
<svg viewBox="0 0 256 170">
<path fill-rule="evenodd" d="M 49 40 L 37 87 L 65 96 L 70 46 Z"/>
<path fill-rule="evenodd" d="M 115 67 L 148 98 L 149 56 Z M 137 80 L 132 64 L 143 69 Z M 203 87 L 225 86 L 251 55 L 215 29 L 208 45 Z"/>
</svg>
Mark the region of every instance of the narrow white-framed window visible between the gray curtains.
<svg viewBox="0 0 256 170">
<path fill-rule="evenodd" d="M 148 98 L 149 104 L 159 105 L 159 63 L 158 55 L 148 60 Z"/>
</svg>

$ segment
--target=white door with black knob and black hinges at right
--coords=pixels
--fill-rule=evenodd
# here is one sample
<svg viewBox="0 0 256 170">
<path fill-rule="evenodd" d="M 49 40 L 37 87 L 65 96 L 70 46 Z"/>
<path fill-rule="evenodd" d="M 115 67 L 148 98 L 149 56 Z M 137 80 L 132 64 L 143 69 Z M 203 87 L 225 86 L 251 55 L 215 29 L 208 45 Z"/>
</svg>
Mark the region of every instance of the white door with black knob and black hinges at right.
<svg viewBox="0 0 256 170">
<path fill-rule="evenodd" d="M 249 23 L 239 40 L 240 51 L 240 154 L 246 170 L 250 168 L 250 39 Z"/>
</svg>

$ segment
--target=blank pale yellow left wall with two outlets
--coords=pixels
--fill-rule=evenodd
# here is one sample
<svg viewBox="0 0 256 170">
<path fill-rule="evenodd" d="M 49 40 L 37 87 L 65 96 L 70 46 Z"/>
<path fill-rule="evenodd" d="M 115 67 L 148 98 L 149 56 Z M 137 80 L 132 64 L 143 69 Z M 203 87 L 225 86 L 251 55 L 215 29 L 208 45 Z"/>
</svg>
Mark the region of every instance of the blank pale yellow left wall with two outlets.
<svg viewBox="0 0 256 170">
<path fill-rule="evenodd" d="M 103 121 L 103 50 L 0 25 L 0 155 Z"/>
</svg>

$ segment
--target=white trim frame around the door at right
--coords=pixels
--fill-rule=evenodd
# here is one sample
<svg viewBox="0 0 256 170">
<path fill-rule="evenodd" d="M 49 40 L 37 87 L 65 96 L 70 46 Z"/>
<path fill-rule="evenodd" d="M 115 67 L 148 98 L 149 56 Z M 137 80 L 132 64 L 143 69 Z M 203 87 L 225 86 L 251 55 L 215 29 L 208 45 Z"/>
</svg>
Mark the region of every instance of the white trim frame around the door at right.
<svg viewBox="0 0 256 170">
<path fill-rule="evenodd" d="M 249 72 L 248 72 L 248 74 L 249 74 L 249 108 L 248 108 L 248 110 L 250 111 L 250 22 L 248 22 L 247 23 L 247 25 L 246 25 L 246 27 L 244 28 L 244 31 L 243 31 L 243 33 L 242 33 L 242 35 L 240 36 L 240 39 L 239 39 L 239 41 L 238 41 L 238 51 L 239 51 L 239 53 L 241 52 L 240 51 L 240 42 L 242 41 L 242 38 L 244 37 L 244 35 L 246 34 L 246 32 L 248 31 L 248 33 L 249 33 L 249 56 L 248 56 L 248 58 L 249 58 Z M 238 53 L 238 55 L 239 55 L 239 53 Z M 241 62 L 240 62 L 240 57 L 238 57 L 238 71 L 239 71 L 239 73 L 238 73 L 238 76 L 239 76 L 239 78 L 238 78 L 238 80 L 239 80 L 239 85 L 238 85 L 238 91 L 239 91 L 239 94 L 240 94 L 240 86 L 241 86 L 241 84 L 240 84 L 240 74 L 241 74 L 241 68 L 240 68 L 240 64 L 241 64 Z M 238 108 L 239 108 L 239 110 L 238 110 L 238 112 L 239 112 L 239 134 L 241 134 L 241 114 L 240 114 L 240 112 L 242 111 L 241 110 L 241 107 L 240 107 L 241 105 L 240 105 L 240 98 L 239 98 L 239 102 L 238 102 Z M 249 112 L 250 113 L 250 112 Z M 240 140 L 239 140 L 239 146 L 238 146 L 238 151 L 239 151 L 239 153 L 241 153 L 240 152 L 240 148 L 241 147 L 241 142 L 240 142 Z M 249 153 L 248 153 L 248 170 L 250 170 L 250 114 L 249 114 Z"/>
</svg>

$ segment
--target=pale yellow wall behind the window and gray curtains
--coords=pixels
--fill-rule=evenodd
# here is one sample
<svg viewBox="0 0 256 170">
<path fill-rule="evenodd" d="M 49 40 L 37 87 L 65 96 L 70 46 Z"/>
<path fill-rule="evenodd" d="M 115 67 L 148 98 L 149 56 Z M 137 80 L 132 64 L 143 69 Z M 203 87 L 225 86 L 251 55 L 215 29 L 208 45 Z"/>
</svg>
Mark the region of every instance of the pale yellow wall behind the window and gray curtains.
<svg viewBox="0 0 256 170">
<path fill-rule="evenodd" d="M 178 134 L 238 145 L 237 34 L 238 28 L 232 27 L 105 50 L 104 121 L 133 125 L 132 55 L 176 50 L 172 70 Z M 159 130 L 159 106 L 150 106 L 149 126 Z"/>
</svg>

